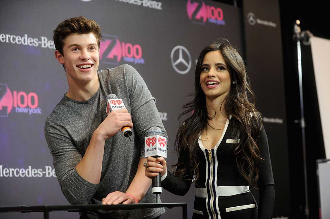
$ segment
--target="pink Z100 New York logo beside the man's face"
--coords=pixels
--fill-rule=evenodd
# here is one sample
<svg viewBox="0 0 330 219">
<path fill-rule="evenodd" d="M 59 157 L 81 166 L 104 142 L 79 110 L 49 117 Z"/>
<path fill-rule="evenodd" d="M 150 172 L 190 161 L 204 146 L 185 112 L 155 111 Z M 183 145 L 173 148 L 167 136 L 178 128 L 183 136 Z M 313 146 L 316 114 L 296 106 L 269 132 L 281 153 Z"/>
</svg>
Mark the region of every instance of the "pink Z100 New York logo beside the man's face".
<svg viewBox="0 0 330 219">
<path fill-rule="evenodd" d="M 106 64 L 118 65 L 125 62 L 145 64 L 139 44 L 120 42 L 116 36 L 104 34 L 100 45 L 100 60 Z"/>
</svg>

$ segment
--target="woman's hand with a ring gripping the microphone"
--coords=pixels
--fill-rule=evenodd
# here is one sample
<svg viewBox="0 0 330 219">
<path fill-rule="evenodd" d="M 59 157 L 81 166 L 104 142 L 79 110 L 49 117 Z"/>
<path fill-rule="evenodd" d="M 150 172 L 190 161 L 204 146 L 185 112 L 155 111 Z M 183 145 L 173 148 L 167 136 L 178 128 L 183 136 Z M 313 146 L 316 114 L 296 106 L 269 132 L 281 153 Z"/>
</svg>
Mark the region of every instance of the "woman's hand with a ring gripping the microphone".
<svg viewBox="0 0 330 219">
<path fill-rule="evenodd" d="M 166 160 L 164 157 L 148 157 L 147 158 L 147 167 L 146 167 L 146 177 L 153 178 L 161 173 L 163 176 L 167 172 Z"/>
</svg>

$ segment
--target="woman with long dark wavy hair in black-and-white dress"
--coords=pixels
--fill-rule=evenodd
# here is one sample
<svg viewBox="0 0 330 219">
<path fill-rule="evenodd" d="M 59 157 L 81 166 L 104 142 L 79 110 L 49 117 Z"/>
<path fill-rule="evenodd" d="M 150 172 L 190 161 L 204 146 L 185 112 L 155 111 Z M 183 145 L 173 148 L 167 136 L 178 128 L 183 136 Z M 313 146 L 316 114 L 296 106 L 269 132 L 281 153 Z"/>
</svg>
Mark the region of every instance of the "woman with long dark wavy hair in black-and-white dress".
<svg viewBox="0 0 330 219">
<path fill-rule="evenodd" d="M 162 186 L 184 195 L 196 184 L 193 219 L 270 219 L 274 179 L 268 140 L 254 105 L 246 67 L 225 39 L 200 53 L 194 99 L 180 115 L 189 117 L 177 133 L 179 159 L 171 174 L 163 157 L 148 157 L 146 176 L 162 175 Z M 258 188 L 259 206 L 250 188 Z"/>
</svg>

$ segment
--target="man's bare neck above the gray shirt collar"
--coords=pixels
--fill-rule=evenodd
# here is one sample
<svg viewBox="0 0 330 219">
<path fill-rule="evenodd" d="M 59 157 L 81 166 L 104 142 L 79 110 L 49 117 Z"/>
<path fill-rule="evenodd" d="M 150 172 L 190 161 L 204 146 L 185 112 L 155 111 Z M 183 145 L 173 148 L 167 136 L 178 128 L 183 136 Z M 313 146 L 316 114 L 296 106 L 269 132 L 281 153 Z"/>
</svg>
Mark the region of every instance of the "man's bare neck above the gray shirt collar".
<svg viewBox="0 0 330 219">
<path fill-rule="evenodd" d="M 92 97 L 99 89 L 99 78 L 95 74 L 95 77 L 86 84 L 78 84 L 68 78 L 69 90 L 66 94 L 71 99 L 77 101 L 85 101 Z"/>
</svg>

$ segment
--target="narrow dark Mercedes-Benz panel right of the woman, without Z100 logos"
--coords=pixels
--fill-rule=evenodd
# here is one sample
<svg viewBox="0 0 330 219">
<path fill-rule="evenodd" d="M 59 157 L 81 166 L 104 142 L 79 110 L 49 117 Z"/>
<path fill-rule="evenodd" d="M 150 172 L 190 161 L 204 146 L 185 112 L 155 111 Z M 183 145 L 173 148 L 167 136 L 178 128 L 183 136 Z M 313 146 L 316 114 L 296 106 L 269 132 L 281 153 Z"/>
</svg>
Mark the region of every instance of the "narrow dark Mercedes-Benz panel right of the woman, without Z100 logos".
<svg viewBox="0 0 330 219">
<path fill-rule="evenodd" d="M 263 114 L 272 159 L 276 194 L 273 218 L 287 219 L 291 200 L 279 2 L 244 1 L 243 16 L 248 75 Z"/>
</svg>

